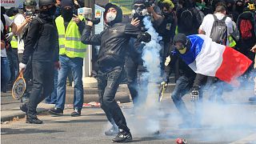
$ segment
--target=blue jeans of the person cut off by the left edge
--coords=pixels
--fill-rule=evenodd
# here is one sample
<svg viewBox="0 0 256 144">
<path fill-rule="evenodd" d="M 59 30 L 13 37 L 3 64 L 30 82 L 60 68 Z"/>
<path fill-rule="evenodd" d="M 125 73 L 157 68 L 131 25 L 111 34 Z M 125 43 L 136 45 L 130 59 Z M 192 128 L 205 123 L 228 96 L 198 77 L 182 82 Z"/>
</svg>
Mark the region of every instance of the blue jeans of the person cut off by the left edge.
<svg viewBox="0 0 256 144">
<path fill-rule="evenodd" d="M 1 57 L 1 90 L 6 88 L 10 81 L 10 66 L 7 57 Z"/>
</svg>

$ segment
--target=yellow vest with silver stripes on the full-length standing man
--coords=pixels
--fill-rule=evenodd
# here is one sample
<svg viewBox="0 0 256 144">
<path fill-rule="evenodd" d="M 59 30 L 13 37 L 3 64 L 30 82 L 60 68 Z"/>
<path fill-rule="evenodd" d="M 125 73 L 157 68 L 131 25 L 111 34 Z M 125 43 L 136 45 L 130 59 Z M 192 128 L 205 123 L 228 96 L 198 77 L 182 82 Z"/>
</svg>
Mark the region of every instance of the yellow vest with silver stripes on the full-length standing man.
<svg viewBox="0 0 256 144">
<path fill-rule="evenodd" d="M 83 20 L 80 15 L 78 18 Z M 55 22 L 58 29 L 59 54 L 66 54 L 70 58 L 85 58 L 87 46 L 81 42 L 81 34 L 77 24 L 70 21 L 65 31 L 62 16 L 58 16 Z"/>
</svg>

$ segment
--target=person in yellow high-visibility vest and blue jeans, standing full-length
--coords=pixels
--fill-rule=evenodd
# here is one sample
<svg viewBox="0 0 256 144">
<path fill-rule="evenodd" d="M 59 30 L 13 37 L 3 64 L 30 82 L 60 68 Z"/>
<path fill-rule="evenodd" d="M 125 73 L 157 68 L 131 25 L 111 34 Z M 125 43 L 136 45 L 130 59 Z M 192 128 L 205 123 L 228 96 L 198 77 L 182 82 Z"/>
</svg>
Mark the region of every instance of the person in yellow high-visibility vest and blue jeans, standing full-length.
<svg viewBox="0 0 256 144">
<path fill-rule="evenodd" d="M 80 116 L 83 104 L 82 65 L 86 56 L 86 45 L 81 42 L 82 30 L 85 27 L 82 16 L 74 16 L 74 2 L 62 0 L 61 12 L 55 19 L 58 29 L 59 61 L 57 102 L 51 114 L 62 115 L 66 98 L 66 78 L 71 69 L 74 78 L 74 112 L 71 116 Z M 74 17 L 74 18 L 72 18 Z"/>
</svg>

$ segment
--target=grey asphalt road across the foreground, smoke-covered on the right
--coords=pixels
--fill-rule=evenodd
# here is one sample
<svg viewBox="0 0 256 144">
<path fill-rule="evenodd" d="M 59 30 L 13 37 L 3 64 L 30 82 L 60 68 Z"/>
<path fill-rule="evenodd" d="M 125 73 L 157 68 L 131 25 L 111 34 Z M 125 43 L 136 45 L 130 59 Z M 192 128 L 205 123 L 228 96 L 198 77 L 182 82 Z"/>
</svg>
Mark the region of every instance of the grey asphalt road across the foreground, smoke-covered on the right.
<svg viewBox="0 0 256 144">
<path fill-rule="evenodd" d="M 251 90 L 234 90 L 224 94 L 224 105 L 208 102 L 207 93 L 204 98 L 204 113 L 202 127 L 196 129 L 179 129 L 180 115 L 170 99 L 165 94 L 161 103 L 153 102 L 141 107 L 149 114 L 142 114 L 133 109 L 131 102 L 121 103 L 126 115 L 134 141 L 131 143 L 175 143 L 176 138 L 185 138 L 188 143 L 256 143 L 256 105 L 248 102 L 253 94 Z M 188 109 L 193 112 L 194 105 L 188 94 L 184 97 Z M 150 109 L 158 105 L 158 113 Z M 12 143 L 111 143 L 113 137 L 104 135 L 109 128 L 106 115 L 100 108 L 84 108 L 82 116 L 72 118 L 72 108 L 64 110 L 64 116 L 54 117 L 42 113 L 38 118 L 42 125 L 26 124 L 25 118 L 15 122 L 2 123 L 1 142 Z M 135 111 L 134 111 L 135 110 Z M 154 122 L 156 120 L 157 122 Z M 150 131 L 154 127 L 160 134 Z M 153 130 L 154 131 L 154 130 Z M 17 139 L 17 140 L 15 140 Z"/>
</svg>

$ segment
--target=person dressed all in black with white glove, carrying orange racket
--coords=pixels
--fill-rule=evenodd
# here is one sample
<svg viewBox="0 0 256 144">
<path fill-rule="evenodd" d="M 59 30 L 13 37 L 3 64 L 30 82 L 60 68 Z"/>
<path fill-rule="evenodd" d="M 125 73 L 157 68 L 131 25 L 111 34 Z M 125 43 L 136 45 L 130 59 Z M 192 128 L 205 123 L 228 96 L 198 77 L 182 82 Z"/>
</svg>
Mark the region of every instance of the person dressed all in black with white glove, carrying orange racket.
<svg viewBox="0 0 256 144">
<path fill-rule="evenodd" d="M 54 4 L 54 0 L 39 1 L 40 14 L 30 23 L 22 62 L 19 63 L 20 70 L 25 70 L 30 56 L 32 58 L 33 86 L 30 100 L 20 106 L 27 114 L 26 123 L 42 124 L 37 118 L 36 108 L 54 90 L 54 66 L 59 68 L 58 49 L 54 47 L 58 40 L 53 19 L 56 10 Z"/>
</svg>

